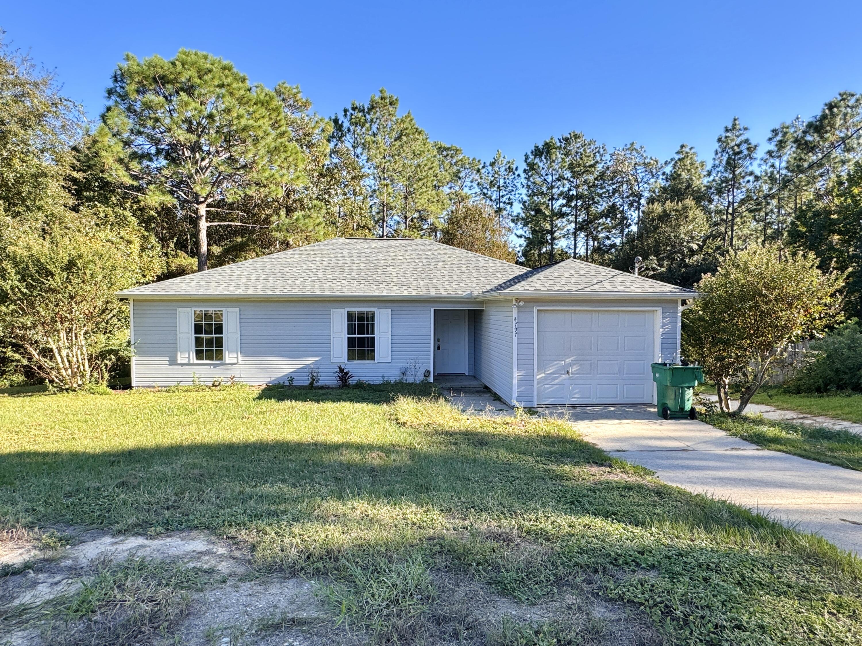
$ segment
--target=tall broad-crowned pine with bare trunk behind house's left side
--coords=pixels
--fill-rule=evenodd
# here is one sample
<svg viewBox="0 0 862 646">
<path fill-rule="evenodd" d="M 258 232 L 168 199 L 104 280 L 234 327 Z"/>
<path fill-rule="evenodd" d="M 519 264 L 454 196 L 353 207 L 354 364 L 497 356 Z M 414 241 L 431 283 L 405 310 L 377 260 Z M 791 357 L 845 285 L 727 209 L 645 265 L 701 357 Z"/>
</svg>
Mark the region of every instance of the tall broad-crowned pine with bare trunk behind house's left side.
<svg viewBox="0 0 862 646">
<path fill-rule="evenodd" d="M 128 181 L 195 222 L 198 271 L 207 269 L 209 227 L 264 226 L 241 221 L 236 202 L 275 199 L 304 181 L 283 97 L 227 61 L 185 49 L 171 60 L 127 54 L 108 98 L 102 119 Z"/>
</svg>

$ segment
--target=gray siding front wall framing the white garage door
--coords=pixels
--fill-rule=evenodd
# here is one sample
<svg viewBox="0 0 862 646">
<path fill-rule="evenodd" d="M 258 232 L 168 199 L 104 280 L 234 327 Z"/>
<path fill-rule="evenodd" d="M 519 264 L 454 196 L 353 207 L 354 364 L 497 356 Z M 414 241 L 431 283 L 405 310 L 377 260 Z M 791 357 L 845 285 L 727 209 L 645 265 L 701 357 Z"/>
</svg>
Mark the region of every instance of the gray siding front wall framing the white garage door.
<svg viewBox="0 0 862 646">
<path fill-rule="evenodd" d="M 661 361 L 672 361 L 679 353 L 679 301 L 637 299 L 584 300 L 555 299 L 540 301 L 523 299 L 518 307 L 518 386 L 517 401 L 522 406 L 535 406 L 534 401 L 534 337 L 535 307 L 661 307 L 659 355 Z M 487 307 L 487 304 L 486 304 Z"/>
</svg>

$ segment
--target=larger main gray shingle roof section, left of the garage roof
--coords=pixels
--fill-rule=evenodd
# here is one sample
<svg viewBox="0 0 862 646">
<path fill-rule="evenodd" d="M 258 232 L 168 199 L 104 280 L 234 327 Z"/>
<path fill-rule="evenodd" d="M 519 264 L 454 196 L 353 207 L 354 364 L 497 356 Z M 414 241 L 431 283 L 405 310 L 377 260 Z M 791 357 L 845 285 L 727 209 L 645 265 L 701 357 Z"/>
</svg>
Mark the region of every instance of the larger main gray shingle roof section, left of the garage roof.
<svg viewBox="0 0 862 646">
<path fill-rule="evenodd" d="M 431 240 L 334 238 L 119 295 L 472 297 L 525 271 Z"/>
</svg>

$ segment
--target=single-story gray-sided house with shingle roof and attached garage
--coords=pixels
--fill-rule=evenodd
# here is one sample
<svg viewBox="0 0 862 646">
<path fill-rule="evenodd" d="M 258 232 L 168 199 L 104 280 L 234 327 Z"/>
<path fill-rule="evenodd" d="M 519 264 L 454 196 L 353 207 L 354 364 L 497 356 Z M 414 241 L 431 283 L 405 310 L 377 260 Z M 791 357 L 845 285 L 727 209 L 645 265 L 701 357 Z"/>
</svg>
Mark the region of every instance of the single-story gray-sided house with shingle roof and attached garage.
<svg viewBox="0 0 862 646">
<path fill-rule="evenodd" d="M 424 239 L 336 238 L 120 292 L 132 385 L 475 376 L 504 401 L 650 403 L 690 289 L 579 260 L 528 270 Z"/>
</svg>

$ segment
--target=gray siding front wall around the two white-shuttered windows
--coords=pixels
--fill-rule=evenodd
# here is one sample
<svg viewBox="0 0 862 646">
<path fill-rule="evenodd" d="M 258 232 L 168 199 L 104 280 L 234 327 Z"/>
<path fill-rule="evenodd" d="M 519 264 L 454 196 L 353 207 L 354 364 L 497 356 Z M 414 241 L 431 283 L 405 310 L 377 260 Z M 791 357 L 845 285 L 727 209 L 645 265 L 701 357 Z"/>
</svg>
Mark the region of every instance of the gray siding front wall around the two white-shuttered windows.
<svg viewBox="0 0 862 646">
<path fill-rule="evenodd" d="M 481 307 L 481 302 L 466 304 Z M 240 363 L 178 363 L 177 308 L 239 307 Z M 324 384 L 335 383 L 337 363 L 330 362 L 330 310 L 334 307 L 391 309 L 390 363 L 349 362 L 359 379 L 395 380 L 415 360 L 419 375 L 431 369 L 434 307 L 465 307 L 456 301 L 150 301 L 134 300 L 135 386 L 188 384 L 193 375 L 203 383 L 235 376 L 252 384 L 308 382 L 309 369 L 320 371 Z M 473 319 L 476 320 L 476 319 Z M 468 339 L 472 338 L 468 328 Z M 468 365 L 472 348 L 468 353 Z M 510 364 L 509 364 L 510 365 Z"/>
</svg>

